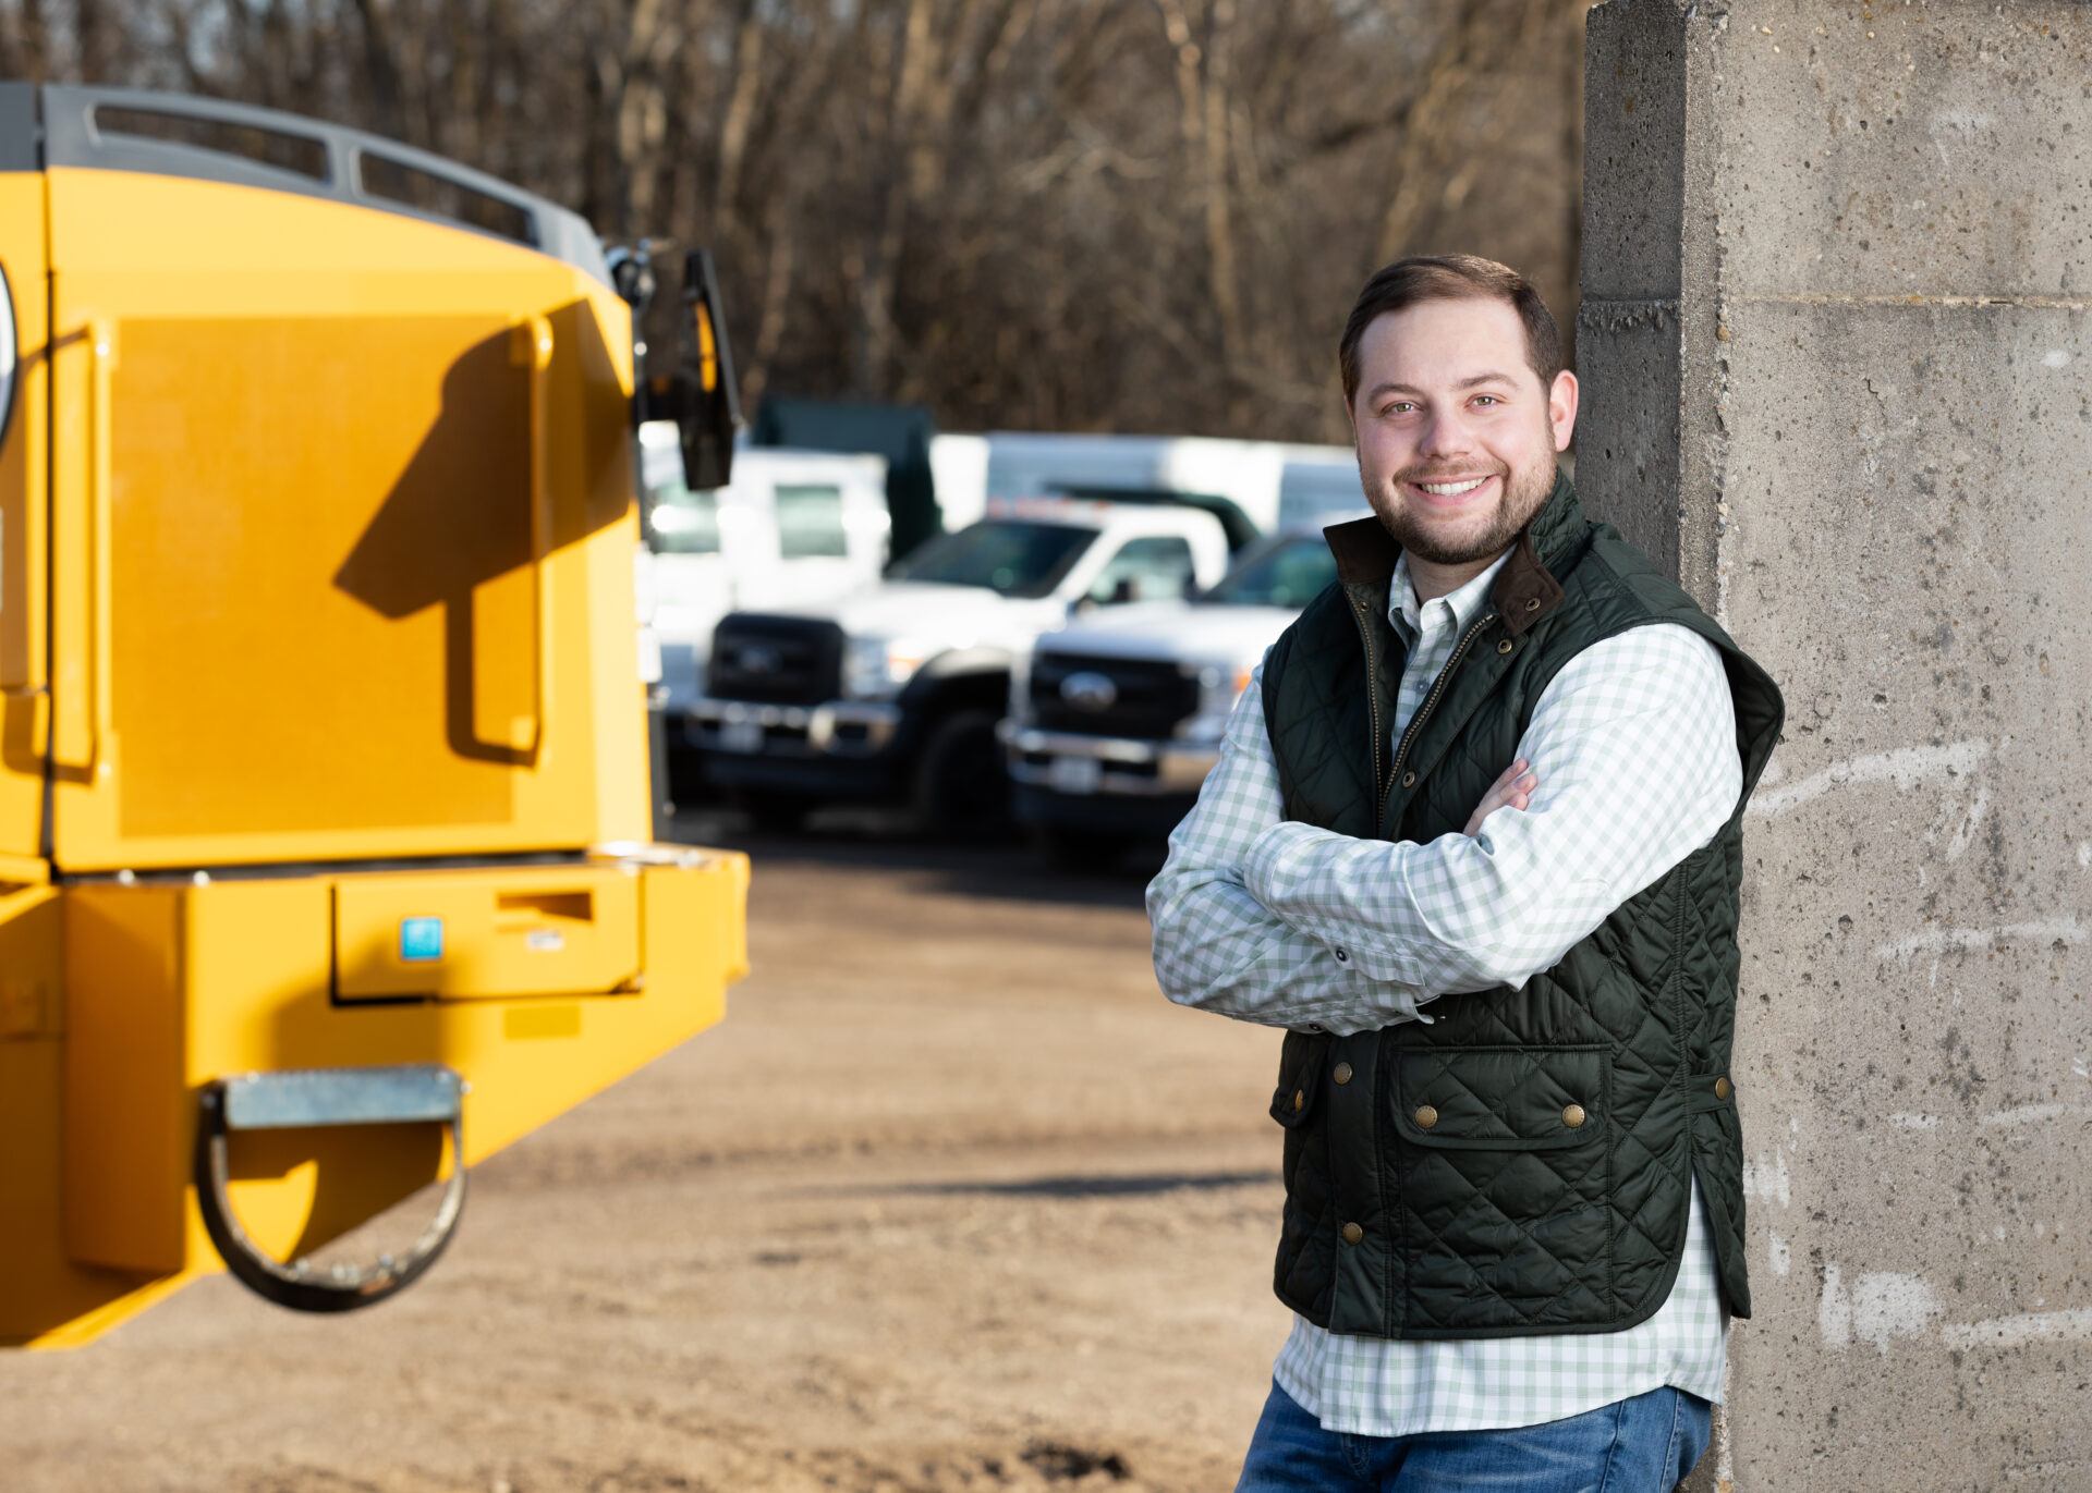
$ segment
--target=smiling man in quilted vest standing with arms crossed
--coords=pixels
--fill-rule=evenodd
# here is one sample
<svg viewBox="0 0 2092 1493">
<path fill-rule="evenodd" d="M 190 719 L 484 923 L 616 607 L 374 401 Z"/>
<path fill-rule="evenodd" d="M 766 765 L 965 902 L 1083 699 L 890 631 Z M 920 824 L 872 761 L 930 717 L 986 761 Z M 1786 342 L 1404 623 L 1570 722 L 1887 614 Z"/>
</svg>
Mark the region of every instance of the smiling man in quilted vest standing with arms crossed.
<svg viewBox="0 0 2092 1493">
<path fill-rule="evenodd" d="M 1736 889 L 1784 707 L 1579 510 L 1519 274 L 1387 266 L 1339 368 L 1374 516 L 1149 887 L 1169 1000 L 1287 1029 L 1295 1324 L 1238 1487 L 1659 1493 L 1751 1311 Z"/>
</svg>

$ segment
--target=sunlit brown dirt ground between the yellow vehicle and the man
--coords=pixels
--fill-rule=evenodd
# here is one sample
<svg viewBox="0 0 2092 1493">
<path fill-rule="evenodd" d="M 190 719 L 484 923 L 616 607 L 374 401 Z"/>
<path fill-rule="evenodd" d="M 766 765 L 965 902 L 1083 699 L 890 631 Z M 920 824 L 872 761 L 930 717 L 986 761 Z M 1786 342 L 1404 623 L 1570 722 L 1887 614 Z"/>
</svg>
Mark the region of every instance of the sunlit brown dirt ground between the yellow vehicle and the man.
<svg viewBox="0 0 2092 1493">
<path fill-rule="evenodd" d="M 393 1303 L 213 1278 L 0 1355 L 0 1489 L 1230 1487 L 1289 1322 L 1276 1033 L 1157 993 L 1153 864 L 741 843 L 722 1027 L 475 1169 Z"/>
</svg>

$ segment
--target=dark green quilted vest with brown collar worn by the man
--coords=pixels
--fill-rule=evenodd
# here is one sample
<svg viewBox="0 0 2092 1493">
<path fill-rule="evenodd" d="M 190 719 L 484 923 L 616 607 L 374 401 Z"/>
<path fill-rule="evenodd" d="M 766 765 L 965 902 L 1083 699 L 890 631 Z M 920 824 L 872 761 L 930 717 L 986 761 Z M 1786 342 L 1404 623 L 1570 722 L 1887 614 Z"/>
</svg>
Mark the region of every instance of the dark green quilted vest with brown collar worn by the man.
<svg viewBox="0 0 2092 1493">
<path fill-rule="evenodd" d="M 1559 477 L 1397 746 L 1400 550 L 1377 519 L 1328 542 L 1337 583 L 1264 665 L 1289 820 L 1360 839 L 1458 834 L 1556 669 L 1646 623 L 1722 650 L 1743 793 L 1705 847 L 1523 989 L 1441 995 L 1433 1023 L 1287 1033 L 1272 1096 L 1287 1131 L 1280 1301 L 1377 1338 L 1632 1328 L 1678 1276 L 1697 1171 L 1722 1290 L 1749 1317 L 1728 1064 L 1743 805 L 1780 734 L 1778 686 Z"/>
</svg>

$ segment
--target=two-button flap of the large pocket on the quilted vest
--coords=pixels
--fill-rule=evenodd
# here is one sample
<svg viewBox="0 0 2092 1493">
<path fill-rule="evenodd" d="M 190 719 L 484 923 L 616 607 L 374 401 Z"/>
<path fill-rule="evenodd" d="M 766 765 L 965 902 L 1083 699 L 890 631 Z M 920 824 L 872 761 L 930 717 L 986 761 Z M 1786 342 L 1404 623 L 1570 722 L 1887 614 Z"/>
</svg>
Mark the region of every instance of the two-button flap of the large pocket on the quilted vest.
<svg viewBox="0 0 2092 1493">
<path fill-rule="evenodd" d="M 1439 1150 L 1565 1150 L 1607 1133 L 1613 1056 L 1569 1048 L 1400 1048 L 1395 1131 Z"/>
</svg>

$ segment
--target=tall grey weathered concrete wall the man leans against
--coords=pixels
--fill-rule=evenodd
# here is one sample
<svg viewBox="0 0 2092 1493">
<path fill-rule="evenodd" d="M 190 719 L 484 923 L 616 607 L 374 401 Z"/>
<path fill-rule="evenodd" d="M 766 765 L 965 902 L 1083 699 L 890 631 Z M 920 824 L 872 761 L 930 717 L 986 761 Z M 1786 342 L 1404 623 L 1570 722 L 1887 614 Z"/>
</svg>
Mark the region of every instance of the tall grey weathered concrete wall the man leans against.
<svg viewBox="0 0 2092 1493">
<path fill-rule="evenodd" d="M 1607 0 L 1577 487 L 1780 682 L 1688 1489 L 2092 1489 L 2092 6 Z"/>
</svg>

